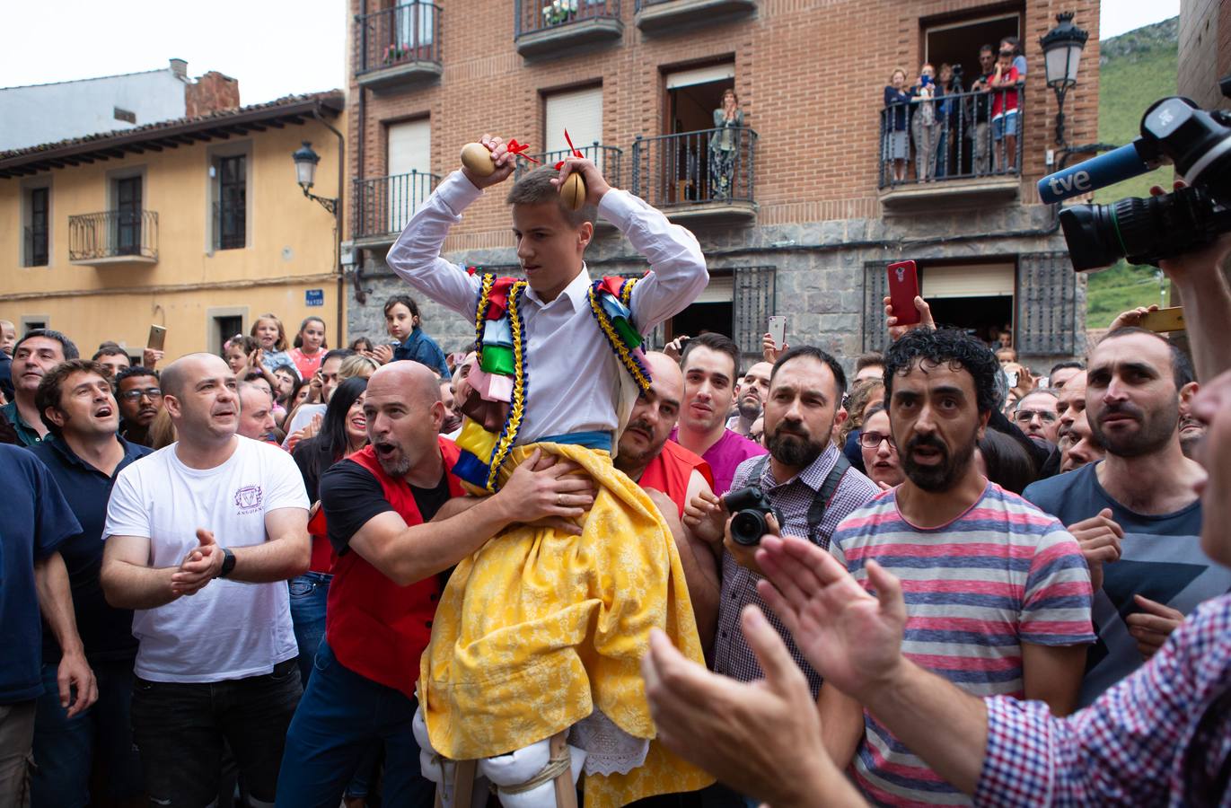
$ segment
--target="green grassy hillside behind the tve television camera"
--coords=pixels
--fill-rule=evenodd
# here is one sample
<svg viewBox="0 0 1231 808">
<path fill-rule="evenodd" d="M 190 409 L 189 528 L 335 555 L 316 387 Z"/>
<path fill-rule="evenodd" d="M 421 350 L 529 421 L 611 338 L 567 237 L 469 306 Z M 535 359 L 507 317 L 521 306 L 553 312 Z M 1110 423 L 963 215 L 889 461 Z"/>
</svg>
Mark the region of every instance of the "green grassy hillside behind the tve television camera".
<svg viewBox="0 0 1231 808">
<path fill-rule="evenodd" d="M 1129 143 L 1139 134 L 1141 115 L 1153 101 L 1176 94 L 1178 17 L 1144 26 L 1102 43 L 1099 65 L 1098 139 Z M 1147 196 L 1151 185 L 1169 187 L 1171 166 L 1099 190 L 1102 204 L 1126 196 Z M 1089 276 L 1086 326 L 1105 328 L 1120 312 L 1158 303 L 1157 270 L 1115 266 Z"/>
</svg>

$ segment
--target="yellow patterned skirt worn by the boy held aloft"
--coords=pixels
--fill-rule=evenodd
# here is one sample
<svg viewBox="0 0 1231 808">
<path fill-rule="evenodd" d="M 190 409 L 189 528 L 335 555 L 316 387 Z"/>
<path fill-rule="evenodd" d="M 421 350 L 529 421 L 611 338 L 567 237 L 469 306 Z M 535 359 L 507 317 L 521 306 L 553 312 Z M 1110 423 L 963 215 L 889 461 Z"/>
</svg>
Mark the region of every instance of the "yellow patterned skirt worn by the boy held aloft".
<svg viewBox="0 0 1231 808">
<path fill-rule="evenodd" d="M 581 466 L 597 488 L 581 536 L 513 526 L 453 570 L 420 665 L 432 746 L 453 760 L 489 758 L 550 738 L 595 708 L 652 739 L 640 660 L 651 628 L 704 664 L 675 541 L 654 503 L 607 452 L 534 448 Z M 628 775 L 587 776 L 587 808 L 696 791 L 713 777 L 656 740 Z"/>
</svg>

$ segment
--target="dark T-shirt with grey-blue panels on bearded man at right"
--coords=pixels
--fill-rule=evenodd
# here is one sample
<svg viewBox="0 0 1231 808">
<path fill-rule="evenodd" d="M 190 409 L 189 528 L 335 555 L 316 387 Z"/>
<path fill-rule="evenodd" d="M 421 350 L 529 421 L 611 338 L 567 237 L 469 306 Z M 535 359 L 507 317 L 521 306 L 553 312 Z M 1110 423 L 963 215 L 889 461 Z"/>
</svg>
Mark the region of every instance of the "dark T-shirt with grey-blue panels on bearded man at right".
<svg viewBox="0 0 1231 808">
<path fill-rule="evenodd" d="M 1134 595 L 1190 613 L 1231 591 L 1231 570 L 1201 551 L 1201 503 L 1161 516 L 1130 511 L 1099 484 L 1091 463 L 1027 487 L 1023 495 L 1067 527 L 1104 507 L 1124 528 L 1119 560 L 1103 565 L 1103 589 L 1094 592 L 1098 643 L 1091 647 L 1081 686 L 1081 706 L 1141 666 L 1141 653 L 1124 618 L 1141 611 Z"/>
</svg>

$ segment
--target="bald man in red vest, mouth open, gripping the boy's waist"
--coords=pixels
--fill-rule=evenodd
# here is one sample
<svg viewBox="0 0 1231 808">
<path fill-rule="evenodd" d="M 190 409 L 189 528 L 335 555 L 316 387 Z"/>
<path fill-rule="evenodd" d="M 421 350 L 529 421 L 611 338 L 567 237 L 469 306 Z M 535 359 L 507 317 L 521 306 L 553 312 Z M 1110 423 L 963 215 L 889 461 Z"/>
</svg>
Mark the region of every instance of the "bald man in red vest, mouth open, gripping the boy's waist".
<svg viewBox="0 0 1231 808">
<path fill-rule="evenodd" d="M 438 435 L 438 382 L 419 362 L 378 370 L 363 414 L 369 445 L 320 478 L 337 562 L 325 642 L 287 732 L 278 806 L 335 808 L 378 740 L 385 804 L 431 806 L 435 786 L 420 775 L 411 722 L 419 658 L 448 570 L 512 522 L 572 520 L 593 503 L 588 478 L 569 474 L 575 466 L 543 458 L 518 466 L 464 515 L 442 507 L 462 495 L 458 448 Z"/>
</svg>

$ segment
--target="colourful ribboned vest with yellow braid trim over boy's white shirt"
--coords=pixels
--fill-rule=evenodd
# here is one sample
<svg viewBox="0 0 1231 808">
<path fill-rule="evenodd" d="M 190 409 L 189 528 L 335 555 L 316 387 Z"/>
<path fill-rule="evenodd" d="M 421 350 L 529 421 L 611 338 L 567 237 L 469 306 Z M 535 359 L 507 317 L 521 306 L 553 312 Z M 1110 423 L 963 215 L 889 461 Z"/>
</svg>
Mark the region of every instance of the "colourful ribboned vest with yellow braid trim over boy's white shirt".
<svg viewBox="0 0 1231 808">
<path fill-rule="evenodd" d="M 641 350 L 641 335 L 633 325 L 629 308 L 633 287 L 639 278 L 604 277 L 590 286 L 590 312 L 607 337 L 620 366 L 644 392 L 650 389 L 650 371 Z M 511 381 L 508 416 L 499 434 L 467 419 L 458 436 L 462 457 L 453 473 L 476 488 L 495 491 L 500 468 L 517 442 L 526 420 L 526 395 L 529 371 L 526 361 L 526 328 L 522 320 L 522 294 L 527 282 L 518 278 L 484 275 L 475 307 L 475 354 L 479 370 Z"/>
</svg>

